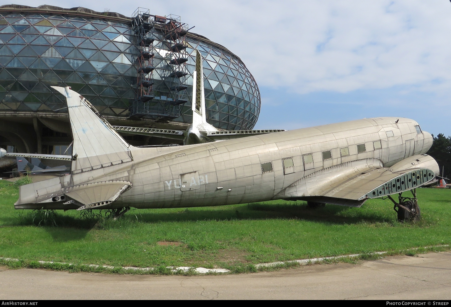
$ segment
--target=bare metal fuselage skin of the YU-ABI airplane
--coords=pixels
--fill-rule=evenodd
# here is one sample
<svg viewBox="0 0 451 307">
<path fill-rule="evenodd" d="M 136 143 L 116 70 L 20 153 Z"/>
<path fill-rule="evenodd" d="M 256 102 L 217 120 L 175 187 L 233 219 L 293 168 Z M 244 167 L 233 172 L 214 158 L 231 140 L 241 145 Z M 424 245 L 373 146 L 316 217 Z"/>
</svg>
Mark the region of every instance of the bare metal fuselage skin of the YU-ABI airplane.
<svg viewBox="0 0 451 307">
<path fill-rule="evenodd" d="M 410 164 L 414 166 L 419 161 L 414 156 L 425 154 L 433 141 L 428 132 L 418 133 L 416 125 L 417 122 L 407 118 L 382 117 L 207 144 L 131 146 L 130 162 L 47 181 L 49 186 L 56 187 L 55 193 L 59 186 L 64 190 L 65 186 L 100 181 L 132 183 L 129 190 L 102 209 L 180 208 L 302 199 L 309 195 L 307 190 L 303 192 L 298 186 L 293 196 L 286 192 L 287 187 L 322 170 L 347 167 L 348 172 L 358 173 L 355 161 L 391 167 L 412 160 Z M 291 162 L 284 164 L 286 158 L 292 158 L 292 166 Z M 423 167 L 437 174 L 437 163 L 431 161 Z M 265 163 L 271 166 L 262 165 Z M 333 173 L 330 180 L 334 180 Z M 15 208 L 79 207 L 62 201 L 37 203 L 31 195 L 23 197 L 26 187 L 21 187 L 21 198 Z"/>
</svg>

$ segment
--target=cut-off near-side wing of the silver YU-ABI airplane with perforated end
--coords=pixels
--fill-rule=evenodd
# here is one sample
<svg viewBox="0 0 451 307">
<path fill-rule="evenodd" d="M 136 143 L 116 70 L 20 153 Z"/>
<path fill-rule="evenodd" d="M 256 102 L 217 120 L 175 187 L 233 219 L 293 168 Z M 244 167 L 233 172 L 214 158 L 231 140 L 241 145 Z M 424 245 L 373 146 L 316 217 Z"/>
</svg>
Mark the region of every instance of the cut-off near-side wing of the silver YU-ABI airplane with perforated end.
<svg viewBox="0 0 451 307">
<path fill-rule="evenodd" d="M 295 181 L 278 198 L 360 207 L 368 199 L 412 190 L 435 179 L 429 168 L 432 157 L 405 160 L 392 167 L 382 167 L 374 158 L 329 167 Z"/>
</svg>

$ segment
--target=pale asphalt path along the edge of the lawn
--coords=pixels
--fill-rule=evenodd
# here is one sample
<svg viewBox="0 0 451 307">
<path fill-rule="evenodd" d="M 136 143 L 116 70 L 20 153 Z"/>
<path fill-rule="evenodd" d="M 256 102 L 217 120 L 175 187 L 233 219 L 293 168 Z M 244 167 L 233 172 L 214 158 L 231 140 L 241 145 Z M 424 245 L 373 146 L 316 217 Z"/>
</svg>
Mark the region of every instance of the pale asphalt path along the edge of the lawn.
<svg viewBox="0 0 451 307">
<path fill-rule="evenodd" d="M 272 272 L 155 276 L 0 268 L 0 299 L 451 299 L 451 252 Z"/>
</svg>

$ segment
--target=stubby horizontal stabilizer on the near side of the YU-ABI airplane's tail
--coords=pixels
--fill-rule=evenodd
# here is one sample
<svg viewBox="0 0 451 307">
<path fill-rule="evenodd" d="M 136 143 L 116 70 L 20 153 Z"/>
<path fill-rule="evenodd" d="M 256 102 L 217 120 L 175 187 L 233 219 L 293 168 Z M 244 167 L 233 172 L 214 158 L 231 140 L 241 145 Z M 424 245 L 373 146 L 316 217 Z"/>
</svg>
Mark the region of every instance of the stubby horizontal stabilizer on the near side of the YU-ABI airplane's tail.
<svg viewBox="0 0 451 307">
<path fill-rule="evenodd" d="M 83 204 L 78 210 L 97 209 L 114 202 L 131 186 L 132 183 L 129 181 L 101 181 L 66 187 L 63 193 Z"/>
</svg>

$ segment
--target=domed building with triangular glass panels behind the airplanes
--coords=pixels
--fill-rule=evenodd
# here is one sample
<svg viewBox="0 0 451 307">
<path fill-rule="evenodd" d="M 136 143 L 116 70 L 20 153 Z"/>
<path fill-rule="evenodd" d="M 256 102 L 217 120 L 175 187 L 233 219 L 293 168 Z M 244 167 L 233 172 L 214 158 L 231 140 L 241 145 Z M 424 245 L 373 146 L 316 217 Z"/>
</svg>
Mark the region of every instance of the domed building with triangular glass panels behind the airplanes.
<svg viewBox="0 0 451 307">
<path fill-rule="evenodd" d="M 164 40 L 165 37 L 156 36 L 152 44 L 158 47 Z M 3 5 L 0 121 L 22 122 L 30 127 L 32 118 L 38 118 L 40 124 L 41 118 L 67 122 L 65 102 L 50 86 L 71 86 L 113 124 L 183 129 L 191 122 L 191 75 L 197 49 L 204 59 L 208 122 L 227 130 L 252 129 L 260 111 L 260 94 L 244 63 L 225 47 L 195 33 L 186 33 L 184 44 L 188 75 L 187 88 L 183 90 L 187 97 L 184 104 L 177 105 L 179 116 L 141 116 L 138 121 L 130 113 L 137 99 L 137 59 L 141 53 L 132 18 L 84 8 Z M 155 55 L 156 62 L 159 56 Z M 152 72 L 155 82 L 165 78 L 159 72 L 157 69 Z M 170 100 L 165 95 L 164 92 L 154 95 L 150 103 Z M 46 126 L 58 130 L 57 125 Z M 8 131 L 3 134 L 1 131 L 0 125 L 0 137 L 3 135 L 0 145 L 2 140 L 5 143 L 11 139 Z"/>
</svg>

